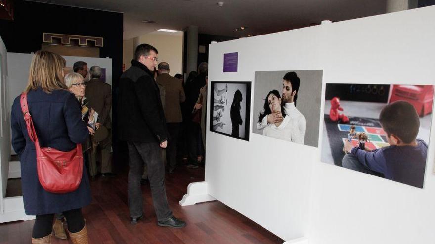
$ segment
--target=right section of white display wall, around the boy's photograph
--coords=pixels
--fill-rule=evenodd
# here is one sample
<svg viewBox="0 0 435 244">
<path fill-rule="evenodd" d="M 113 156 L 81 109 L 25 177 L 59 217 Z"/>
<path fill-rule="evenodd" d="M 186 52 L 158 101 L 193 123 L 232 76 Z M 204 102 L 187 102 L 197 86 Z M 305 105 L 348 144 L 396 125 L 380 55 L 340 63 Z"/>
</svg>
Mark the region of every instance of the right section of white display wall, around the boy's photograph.
<svg viewBox="0 0 435 244">
<path fill-rule="evenodd" d="M 324 27 L 324 82 L 435 84 L 435 7 Z M 310 244 L 435 243 L 434 119 L 431 129 L 423 189 L 317 157 Z"/>
</svg>

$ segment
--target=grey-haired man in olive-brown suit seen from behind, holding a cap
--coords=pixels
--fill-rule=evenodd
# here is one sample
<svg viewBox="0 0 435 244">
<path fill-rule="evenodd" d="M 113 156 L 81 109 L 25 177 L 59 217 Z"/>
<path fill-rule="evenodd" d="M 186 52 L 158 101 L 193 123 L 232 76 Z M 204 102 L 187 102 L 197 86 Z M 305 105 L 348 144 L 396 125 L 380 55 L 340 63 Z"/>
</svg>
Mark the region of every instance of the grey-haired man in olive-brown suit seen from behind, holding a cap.
<svg viewBox="0 0 435 244">
<path fill-rule="evenodd" d="M 98 174 L 96 156 L 101 152 L 101 174 L 103 177 L 113 177 L 112 160 L 110 149 L 112 147 L 112 121 L 110 109 L 112 108 L 112 86 L 100 80 L 102 71 L 99 66 L 92 66 L 89 70 L 91 80 L 86 84 L 85 97 L 88 107 L 98 113 L 97 131 L 102 125 L 107 129 L 107 137 L 98 139 L 92 136 L 92 148 L 90 150 L 89 174 L 94 177 Z M 101 128 L 103 129 L 103 128 Z"/>
</svg>

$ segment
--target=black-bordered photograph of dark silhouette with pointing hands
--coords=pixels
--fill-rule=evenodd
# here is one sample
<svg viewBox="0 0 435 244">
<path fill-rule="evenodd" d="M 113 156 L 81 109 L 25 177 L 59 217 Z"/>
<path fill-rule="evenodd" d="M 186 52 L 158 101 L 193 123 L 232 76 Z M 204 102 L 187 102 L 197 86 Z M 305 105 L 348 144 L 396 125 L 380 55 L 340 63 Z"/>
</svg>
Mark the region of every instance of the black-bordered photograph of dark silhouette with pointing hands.
<svg viewBox="0 0 435 244">
<path fill-rule="evenodd" d="M 250 81 L 212 81 L 210 131 L 249 141 Z"/>
</svg>

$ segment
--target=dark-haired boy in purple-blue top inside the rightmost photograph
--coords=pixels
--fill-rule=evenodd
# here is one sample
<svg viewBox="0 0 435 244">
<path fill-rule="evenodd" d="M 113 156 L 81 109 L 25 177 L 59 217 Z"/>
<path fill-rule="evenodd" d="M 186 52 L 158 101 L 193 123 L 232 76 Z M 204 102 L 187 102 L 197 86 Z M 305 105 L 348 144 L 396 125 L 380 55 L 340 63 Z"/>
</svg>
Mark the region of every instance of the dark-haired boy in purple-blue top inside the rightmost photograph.
<svg viewBox="0 0 435 244">
<path fill-rule="evenodd" d="M 343 157 L 345 168 L 423 188 L 428 145 L 416 139 L 420 120 L 414 106 L 406 101 L 391 103 L 379 115 L 390 146 L 371 152 L 353 147 L 348 141 Z"/>
</svg>

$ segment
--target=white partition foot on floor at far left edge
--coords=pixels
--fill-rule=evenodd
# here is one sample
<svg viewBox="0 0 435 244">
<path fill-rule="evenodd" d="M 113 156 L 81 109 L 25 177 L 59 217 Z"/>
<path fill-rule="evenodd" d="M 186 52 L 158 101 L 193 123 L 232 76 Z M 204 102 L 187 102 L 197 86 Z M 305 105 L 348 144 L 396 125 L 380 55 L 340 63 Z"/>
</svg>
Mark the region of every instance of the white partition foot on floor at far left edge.
<svg viewBox="0 0 435 244">
<path fill-rule="evenodd" d="M 24 213 L 23 196 L 3 198 L 3 214 L 0 214 L 0 223 L 32 219 L 35 219 L 35 216 Z"/>
</svg>

